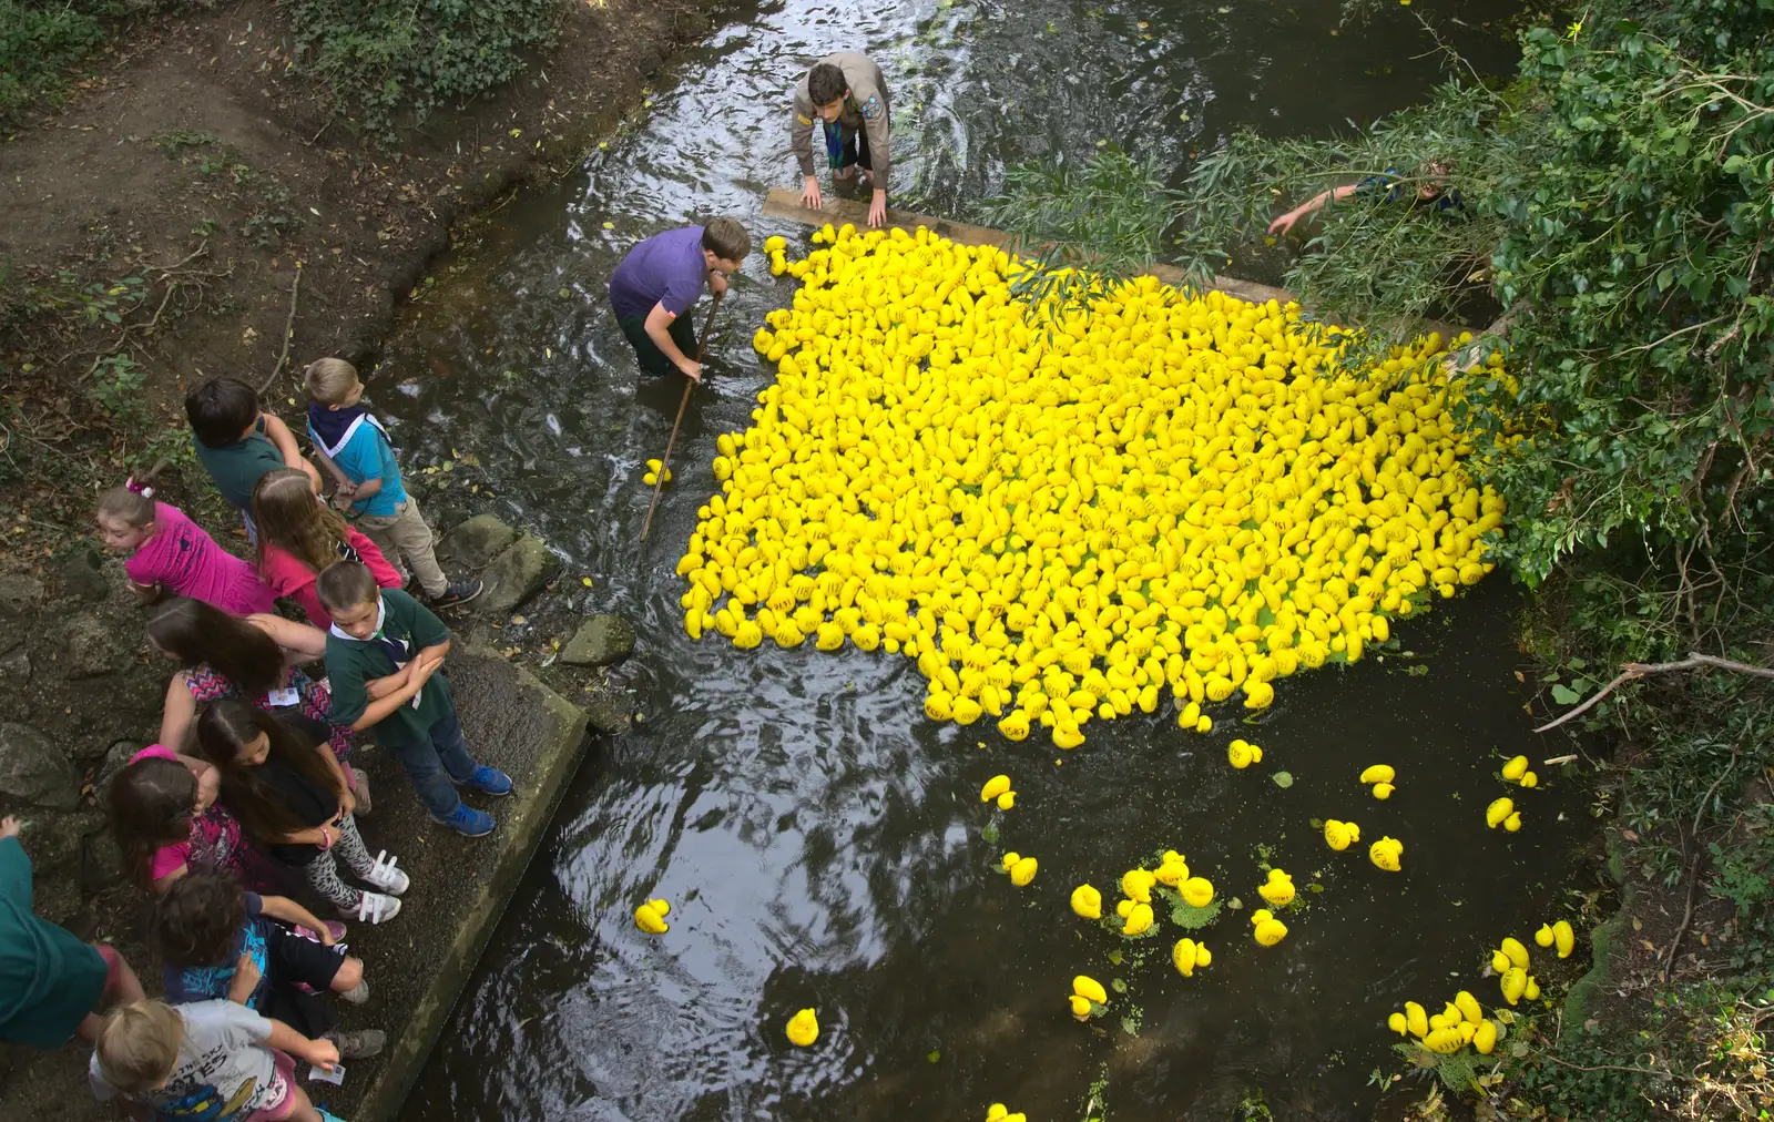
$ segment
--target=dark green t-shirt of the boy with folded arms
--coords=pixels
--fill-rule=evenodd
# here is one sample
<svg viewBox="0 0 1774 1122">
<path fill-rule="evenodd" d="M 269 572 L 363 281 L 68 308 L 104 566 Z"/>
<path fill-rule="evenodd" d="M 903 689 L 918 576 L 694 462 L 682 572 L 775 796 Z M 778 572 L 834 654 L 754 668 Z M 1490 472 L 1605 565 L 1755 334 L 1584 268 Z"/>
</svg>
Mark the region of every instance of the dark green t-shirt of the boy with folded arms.
<svg viewBox="0 0 1774 1122">
<path fill-rule="evenodd" d="M 428 646 L 449 639 L 444 621 L 406 593 L 381 589 L 381 628 L 371 639 L 351 639 L 337 625 L 326 632 L 326 678 L 332 682 L 335 724 L 353 724 L 369 708 L 369 682 L 387 678 L 412 662 Z M 396 659 L 396 650 L 401 659 Z M 415 705 L 417 703 L 417 705 Z M 424 744 L 431 726 L 456 712 L 444 671 L 431 675 L 424 689 L 380 723 L 371 726 L 376 744 Z"/>
</svg>

